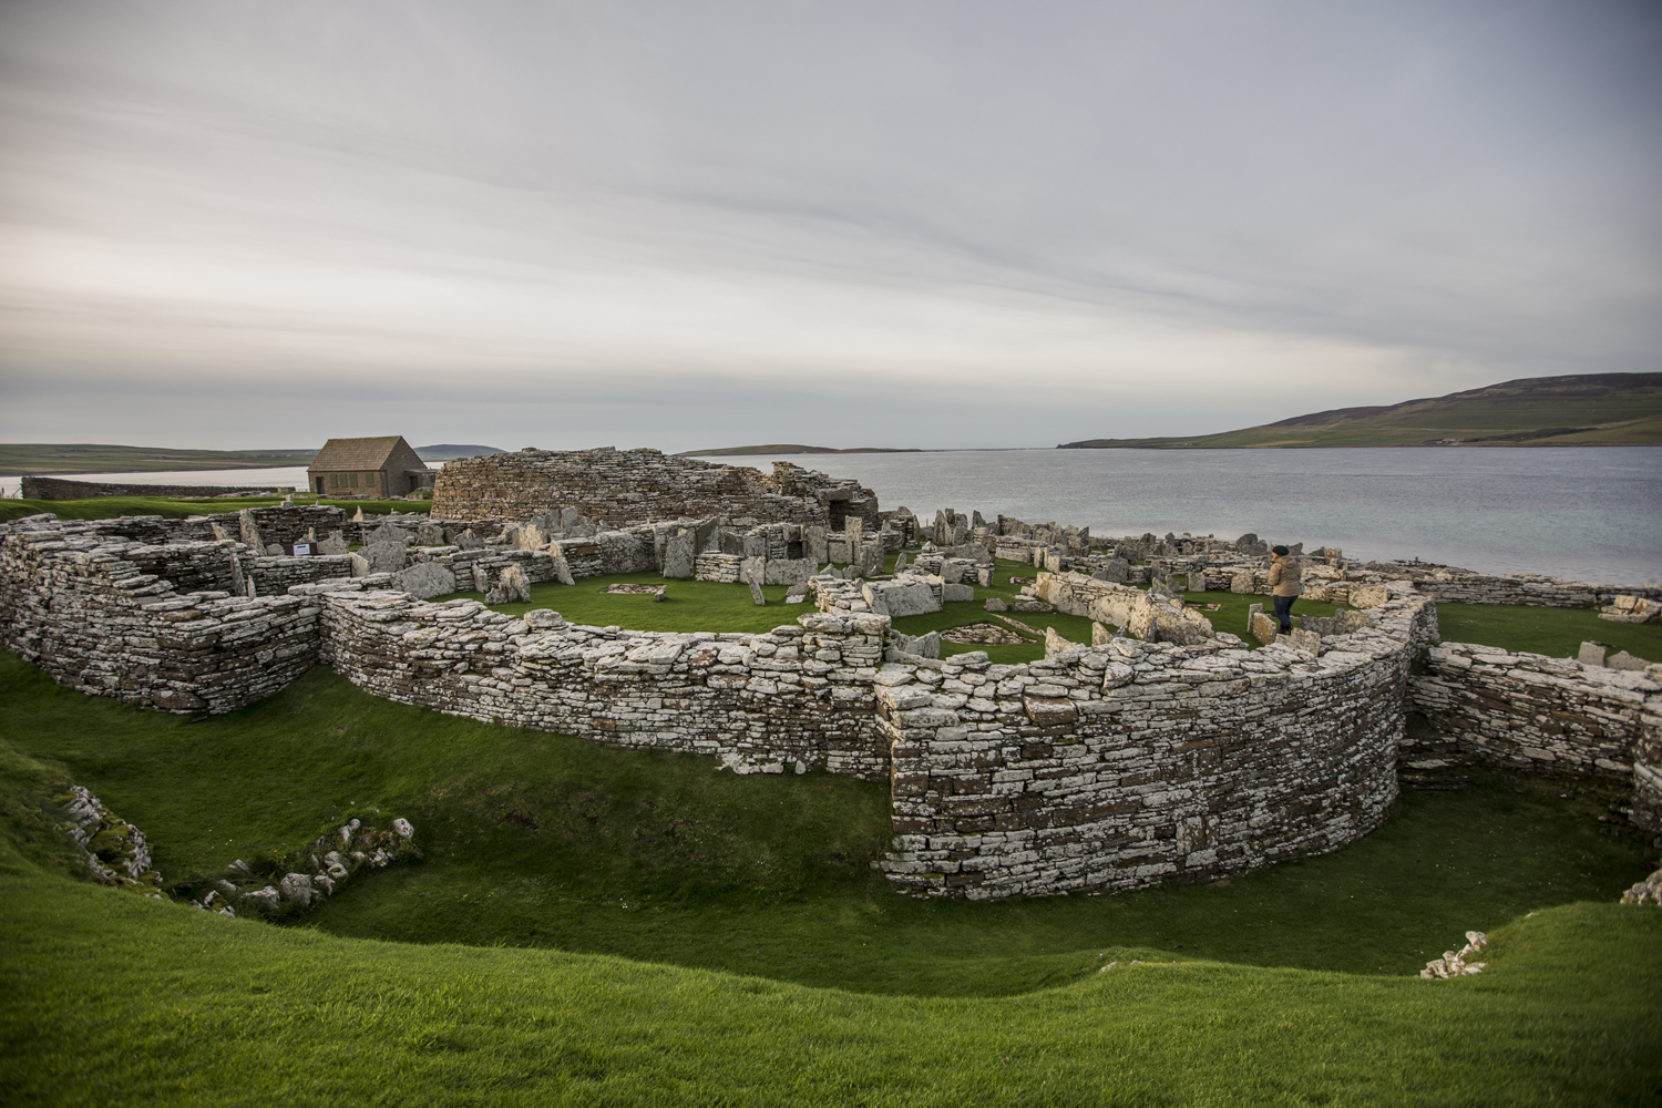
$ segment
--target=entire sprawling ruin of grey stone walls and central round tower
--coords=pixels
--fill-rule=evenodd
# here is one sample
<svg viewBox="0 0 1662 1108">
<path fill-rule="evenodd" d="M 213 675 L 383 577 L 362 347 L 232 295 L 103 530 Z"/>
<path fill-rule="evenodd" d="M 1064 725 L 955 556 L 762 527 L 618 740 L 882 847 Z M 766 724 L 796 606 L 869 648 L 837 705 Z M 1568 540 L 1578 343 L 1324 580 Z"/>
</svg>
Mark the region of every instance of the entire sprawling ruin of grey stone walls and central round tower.
<svg viewBox="0 0 1662 1108">
<path fill-rule="evenodd" d="M 284 553 L 307 540 L 324 553 Z M 1172 586 L 1263 591 L 1265 547 L 926 522 L 794 465 L 535 450 L 447 463 L 430 517 L 0 527 L 0 635 L 70 688 L 160 711 L 233 711 L 327 664 L 401 703 L 735 772 L 888 777 L 881 865 L 912 895 L 1133 889 L 1333 851 L 1384 821 L 1401 774 L 1459 761 L 1629 781 L 1632 819 L 1662 831 L 1662 668 L 1434 645 L 1439 600 L 1634 618 L 1662 590 L 1320 550 L 1308 591 L 1348 610 L 1250 651 Z M 1032 565 L 1024 603 L 1095 620 L 1097 641 L 1006 666 L 894 633 L 974 598 L 994 558 Z M 670 635 L 442 600 L 623 571 L 788 583 L 809 611 Z"/>
</svg>

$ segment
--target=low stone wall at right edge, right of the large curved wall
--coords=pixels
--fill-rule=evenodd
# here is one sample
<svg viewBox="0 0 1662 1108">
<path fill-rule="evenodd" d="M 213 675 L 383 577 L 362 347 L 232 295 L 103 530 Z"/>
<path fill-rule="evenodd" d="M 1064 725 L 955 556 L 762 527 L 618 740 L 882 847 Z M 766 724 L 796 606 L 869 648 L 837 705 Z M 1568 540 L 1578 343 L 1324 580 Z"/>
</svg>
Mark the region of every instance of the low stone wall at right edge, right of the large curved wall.
<svg viewBox="0 0 1662 1108">
<path fill-rule="evenodd" d="M 1634 776 L 1635 822 L 1662 799 L 1662 664 L 1645 671 L 1584 666 L 1443 643 L 1409 681 L 1414 711 L 1463 759 L 1577 776 Z M 1408 757 L 1436 751 L 1406 751 Z M 1652 799 L 1645 799 L 1645 797 Z"/>
</svg>

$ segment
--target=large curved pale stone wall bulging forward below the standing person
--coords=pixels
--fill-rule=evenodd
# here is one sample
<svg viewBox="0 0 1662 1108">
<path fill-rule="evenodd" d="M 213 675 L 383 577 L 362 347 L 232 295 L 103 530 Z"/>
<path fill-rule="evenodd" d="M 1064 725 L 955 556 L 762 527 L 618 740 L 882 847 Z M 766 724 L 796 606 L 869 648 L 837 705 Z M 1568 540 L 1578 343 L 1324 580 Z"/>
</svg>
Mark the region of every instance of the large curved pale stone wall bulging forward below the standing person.
<svg viewBox="0 0 1662 1108">
<path fill-rule="evenodd" d="M 914 895 L 1135 889 L 1335 851 L 1396 799 L 1424 598 L 1318 658 L 1114 640 L 1025 666 L 889 666 L 897 849 Z M 961 656 L 966 658 L 966 656 Z"/>
</svg>

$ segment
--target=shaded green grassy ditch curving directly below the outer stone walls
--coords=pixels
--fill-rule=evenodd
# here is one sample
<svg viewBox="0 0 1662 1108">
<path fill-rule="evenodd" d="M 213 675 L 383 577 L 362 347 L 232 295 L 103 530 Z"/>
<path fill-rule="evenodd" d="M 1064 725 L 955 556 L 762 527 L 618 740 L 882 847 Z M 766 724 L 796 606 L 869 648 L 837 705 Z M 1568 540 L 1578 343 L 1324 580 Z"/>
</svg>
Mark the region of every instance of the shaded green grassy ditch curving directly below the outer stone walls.
<svg viewBox="0 0 1662 1108">
<path fill-rule="evenodd" d="M 173 882 L 401 814 L 425 862 L 357 882 L 311 917 L 419 944 L 562 947 L 858 992 L 1002 995 L 1074 980 L 1104 949 L 1404 973 L 1469 927 L 1647 872 L 1601 824 L 1610 797 L 1479 777 L 1408 794 L 1341 854 L 1220 885 L 967 904 L 894 895 L 888 784 L 716 772 L 379 701 L 317 669 L 203 723 L 60 689 L 7 658 L 0 738 L 61 766 L 155 844 Z"/>
</svg>

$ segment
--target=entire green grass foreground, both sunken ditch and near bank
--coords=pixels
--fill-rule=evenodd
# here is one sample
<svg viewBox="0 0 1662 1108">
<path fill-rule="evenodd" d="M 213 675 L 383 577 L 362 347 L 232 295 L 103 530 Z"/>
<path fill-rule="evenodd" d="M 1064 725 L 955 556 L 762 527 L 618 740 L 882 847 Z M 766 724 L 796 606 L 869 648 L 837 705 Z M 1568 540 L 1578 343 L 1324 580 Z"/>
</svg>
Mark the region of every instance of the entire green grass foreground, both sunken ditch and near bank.
<svg viewBox="0 0 1662 1108">
<path fill-rule="evenodd" d="M 0 1088 L 30 1105 L 1537 1105 L 1662 1093 L 1662 912 L 1589 791 L 1404 796 L 1228 884 L 914 902 L 888 787 L 736 777 L 371 698 L 204 723 L 0 656 Z M 304 925 L 71 882 L 40 767 L 165 875 L 381 809 L 425 859 Z M 1411 973 L 1461 932 L 1487 973 Z M 407 940 L 407 942 L 389 942 Z M 1140 960 L 1143 965 L 1130 965 Z M 1117 963 L 1114 968 L 1104 968 Z"/>
</svg>

